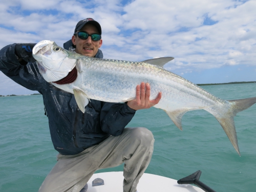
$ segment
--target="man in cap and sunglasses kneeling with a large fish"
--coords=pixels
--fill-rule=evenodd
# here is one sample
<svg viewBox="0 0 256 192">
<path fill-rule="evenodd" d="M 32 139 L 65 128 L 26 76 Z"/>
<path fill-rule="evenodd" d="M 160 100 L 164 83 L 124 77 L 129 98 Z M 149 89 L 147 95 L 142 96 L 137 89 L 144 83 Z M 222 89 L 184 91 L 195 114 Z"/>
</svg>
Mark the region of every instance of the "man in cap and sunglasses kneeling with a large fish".
<svg viewBox="0 0 256 192">
<path fill-rule="evenodd" d="M 150 163 L 154 138 L 144 127 L 124 127 L 136 110 L 157 104 L 161 93 L 150 100 L 150 85 L 142 82 L 136 87 L 135 100 L 108 103 L 91 99 L 83 114 L 73 94 L 42 78 L 31 56 L 34 45 L 13 44 L 3 48 L 0 70 L 22 86 L 38 91 L 44 99 L 52 142 L 59 154 L 39 191 L 80 191 L 96 170 L 124 163 L 123 191 L 135 192 Z M 102 58 L 99 23 L 92 18 L 80 20 L 64 48 L 69 45 L 79 54 Z M 64 79 L 58 82 L 67 83 L 67 78 Z"/>
</svg>

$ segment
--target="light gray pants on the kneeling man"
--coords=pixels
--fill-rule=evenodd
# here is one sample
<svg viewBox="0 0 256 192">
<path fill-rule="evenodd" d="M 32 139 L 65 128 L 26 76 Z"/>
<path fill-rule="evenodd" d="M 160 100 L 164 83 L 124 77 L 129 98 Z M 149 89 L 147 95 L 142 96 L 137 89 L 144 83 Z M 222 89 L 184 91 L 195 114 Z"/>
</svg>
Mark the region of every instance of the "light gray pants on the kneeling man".
<svg viewBox="0 0 256 192">
<path fill-rule="evenodd" d="M 126 128 L 77 155 L 57 156 L 58 162 L 39 192 L 79 192 L 98 169 L 124 163 L 123 191 L 135 192 L 140 177 L 150 163 L 154 138 L 144 127 Z"/>
</svg>

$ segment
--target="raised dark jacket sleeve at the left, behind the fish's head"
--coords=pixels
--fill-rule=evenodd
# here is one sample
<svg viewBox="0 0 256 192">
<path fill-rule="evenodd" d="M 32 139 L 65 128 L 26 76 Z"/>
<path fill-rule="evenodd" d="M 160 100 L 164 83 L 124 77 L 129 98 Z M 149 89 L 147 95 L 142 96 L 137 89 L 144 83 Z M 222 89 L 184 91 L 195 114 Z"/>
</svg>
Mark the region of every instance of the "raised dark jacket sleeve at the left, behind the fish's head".
<svg viewBox="0 0 256 192">
<path fill-rule="evenodd" d="M 40 92 L 46 81 L 39 73 L 35 62 L 28 62 L 26 66 L 19 63 L 15 55 L 15 45 L 0 50 L 0 70 L 21 86 Z"/>
</svg>

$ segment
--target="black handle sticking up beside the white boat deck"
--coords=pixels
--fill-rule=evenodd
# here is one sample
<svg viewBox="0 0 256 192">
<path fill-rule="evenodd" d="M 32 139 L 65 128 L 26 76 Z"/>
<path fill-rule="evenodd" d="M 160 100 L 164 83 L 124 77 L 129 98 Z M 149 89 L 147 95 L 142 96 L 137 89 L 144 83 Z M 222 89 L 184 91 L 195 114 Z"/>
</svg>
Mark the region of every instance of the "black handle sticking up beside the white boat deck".
<svg viewBox="0 0 256 192">
<path fill-rule="evenodd" d="M 202 173 L 201 170 L 198 170 L 194 174 L 191 174 L 187 177 L 184 177 L 184 178 L 178 180 L 177 183 L 178 184 L 195 184 L 206 192 L 216 192 L 214 189 L 211 189 L 210 187 L 208 187 L 207 185 L 205 185 L 204 183 L 199 181 L 201 173 Z"/>
</svg>

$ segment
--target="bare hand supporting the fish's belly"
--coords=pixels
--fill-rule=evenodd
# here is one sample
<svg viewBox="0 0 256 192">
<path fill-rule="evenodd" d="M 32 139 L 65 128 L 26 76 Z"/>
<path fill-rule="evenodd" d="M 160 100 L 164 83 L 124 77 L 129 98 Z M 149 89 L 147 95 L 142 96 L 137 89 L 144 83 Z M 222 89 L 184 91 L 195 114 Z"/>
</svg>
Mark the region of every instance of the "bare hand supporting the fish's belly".
<svg viewBox="0 0 256 192">
<path fill-rule="evenodd" d="M 154 100 L 150 100 L 150 84 L 142 82 L 140 86 L 136 87 L 136 99 L 128 101 L 127 105 L 133 110 L 148 109 L 157 104 L 162 97 L 162 93 L 159 92 L 158 96 Z"/>
</svg>

